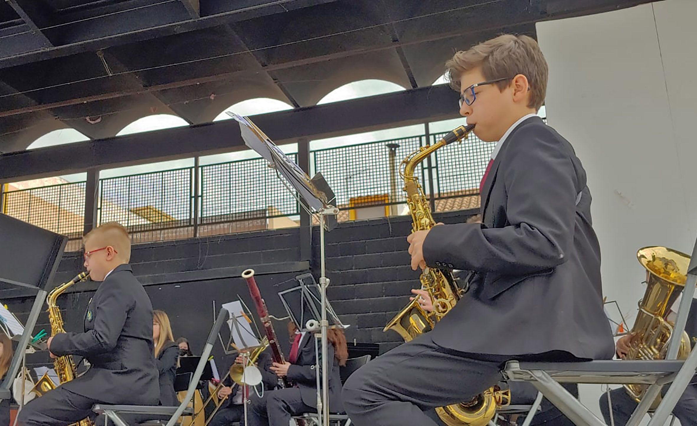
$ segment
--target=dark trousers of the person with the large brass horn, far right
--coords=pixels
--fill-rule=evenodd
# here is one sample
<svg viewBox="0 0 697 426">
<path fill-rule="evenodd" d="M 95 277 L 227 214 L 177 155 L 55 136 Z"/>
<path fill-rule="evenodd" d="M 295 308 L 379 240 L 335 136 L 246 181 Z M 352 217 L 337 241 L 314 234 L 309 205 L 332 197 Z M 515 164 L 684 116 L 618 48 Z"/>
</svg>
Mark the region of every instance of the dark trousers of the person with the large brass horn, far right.
<svg viewBox="0 0 697 426">
<path fill-rule="evenodd" d="M 661 393 L 668 391 L 668 385 L 661 389 Z M 615 426 L 624 426 L 629 421 L 631 413 L 636 409 L 636 402 L 629 396 L 624 387 L 610 391 L 612 400 L 612 414 Z M 605 423 L 610 424 L 610 409 L 608 407 L 608 396 L 603 393 L 600 395 L 600 411 L 603 413 Z M 680 420 L 682 426 L 697 426 L 697 385 L 691 384 L 685 388 L 684 393 L 677 400 L 673 414 Z"/>
</svg>

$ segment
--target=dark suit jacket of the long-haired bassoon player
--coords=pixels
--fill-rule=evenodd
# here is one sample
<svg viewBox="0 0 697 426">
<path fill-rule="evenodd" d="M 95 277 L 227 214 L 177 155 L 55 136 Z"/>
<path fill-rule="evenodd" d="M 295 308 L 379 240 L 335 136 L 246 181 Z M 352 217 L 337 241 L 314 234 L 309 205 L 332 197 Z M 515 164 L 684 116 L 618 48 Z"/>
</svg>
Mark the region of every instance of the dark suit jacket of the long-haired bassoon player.
<svg viewBox="0 0 697 426">
<path fill-rule="evenodd" d="M 315 350 L 314 350 L 314 335 L 305 333 L 302 336 L 302 341 L 298 346 L 298 359 L 290 367 L 288 367 L 288 378 L 296 383 L 300 388 L 300 396 L 302 402 L 317 408 L 317 379 L 315 374 Z M 319 342 L 318 342 L 319 343 Z M 322 349 L 318 344 L 320 356 L 320 369 L 322 366 Z M 339 375 L 339 362 L 334 357 L 334 345 L 331 343 L 327 347 L 327 355 L 329 357 L 329 410 L 331 413 L 342 413 L 344 404 L 342 404 L 342 379 Z M 322 380 L 320 374 L 319 379 Z"/>
</svg>

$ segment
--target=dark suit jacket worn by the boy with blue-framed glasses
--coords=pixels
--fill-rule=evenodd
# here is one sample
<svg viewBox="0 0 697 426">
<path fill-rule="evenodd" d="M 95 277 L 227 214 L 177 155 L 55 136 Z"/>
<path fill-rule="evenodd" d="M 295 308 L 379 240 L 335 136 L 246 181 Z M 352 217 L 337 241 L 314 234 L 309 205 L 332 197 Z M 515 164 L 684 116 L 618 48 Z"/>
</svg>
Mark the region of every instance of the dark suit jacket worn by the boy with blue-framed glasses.
<svg viewBox="0 0 697 426">
<path fill-rule="evenodd" d="M 434 342 L 512 358 L 612 358 L 590 201 L 566 139 L 538 117 L 512 130 L 484 183 L 483 224 L 433 227 L 424 241 L 429 266 L 475 271 Z"/>
</svg>

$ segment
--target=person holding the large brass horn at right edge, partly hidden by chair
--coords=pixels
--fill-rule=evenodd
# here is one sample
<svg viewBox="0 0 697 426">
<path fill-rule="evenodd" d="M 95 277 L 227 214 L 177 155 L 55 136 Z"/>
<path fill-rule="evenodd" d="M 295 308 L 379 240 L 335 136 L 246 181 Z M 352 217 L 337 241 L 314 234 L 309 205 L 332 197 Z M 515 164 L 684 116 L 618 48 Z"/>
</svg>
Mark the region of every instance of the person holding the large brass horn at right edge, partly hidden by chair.
<svg viewBox="0 0 697 426">
<path fill-rule="evenodd" d="M 675 303 L 673 303 L 671 314 L 668 314 L 668 321 L 675 321 L 675 312 L 677 311 L 677 307 L 680 306 L 681 297 L 682 294 L 680 294 Z M 687 324 L 685 324 L 685 331 L 687 335 L 689 335 L 694 349 L 694 342 L 697 342 L 697 299 L 692 300 L 690 312 L 687 317 Z M 624 359 L 627 356 L 631 337 L 631 335 L 624 335 L 617 341 L 617 356 L 619 358 Z M 669 387 L 670 385 L 666 385 L 661 388 L 661 393 L 665 395 Z M 631 413 L 634 413 L 637 403 L 629 393 L 627 393 L 624 386 L 611 390 L 610 400 L 612 401 L 612 414 L 615 426 L 626 425 L 631 417 Z M 605 422 L 609 425 L 610 409 L 608 407 L 608 395 L 606 393 L 600 395 L 599 402 L 600 411 L 603 413 Z M 675 408 L 673 408 L 673 414 L 677 417 L 677 420 L 680 420 L 680 425 L 697 426 L 697 375 L 692 378 L 680 399 L 677 400 L 677 404 L 675 404 Z"/>
</svg>

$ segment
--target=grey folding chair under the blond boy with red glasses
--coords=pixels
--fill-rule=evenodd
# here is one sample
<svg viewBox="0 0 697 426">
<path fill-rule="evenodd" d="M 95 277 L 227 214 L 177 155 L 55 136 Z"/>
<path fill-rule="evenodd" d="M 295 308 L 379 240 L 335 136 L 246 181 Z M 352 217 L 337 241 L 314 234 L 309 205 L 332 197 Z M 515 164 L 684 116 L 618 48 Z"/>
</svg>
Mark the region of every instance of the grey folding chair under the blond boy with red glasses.
<svg viewBox="0 0 697 426">
<path fill-rule="evenodd" d="M 229 317 L 227 310 L 221 309 L 218 313 L 215 324 L 213 328 L 210 329 L 210 334 L 208 335 L 208 340 L 206 340 L 206 345 L 204 346 L 204 351 L 201 353 L 201 359 L 196 367 L 196 371 L 192 374 L 191 380 L 189 382 L 189 387 L 186 391 L 186 396 L 182 400 L 179 406 L 148 406 L 148 405 L 107 405 L 107 404 L 95 404 L 92 407 L 92 411 L 98 414 L 104 414 L 107 418 L 107 423 L 112 420 L 115 425 L 118 426 L 128 426 L 126 420 L 124 420 L 123 415 L 130 414 L 152 414 L 153 418 L 158 418 L 161 416 L 171 416 L 167 421 L 167 426 L 174 426 L 176 421 L 180 416 L 187 415 L 191 416 L 193 413 L 192 409 L 187 408 L 187 405 L 194 396 L 194 390 L 201 379 L 201 374 L 204 372 L 204 367 L 208 363 L 208 356 L 210 356 L 210 351 L 213 349 L 213 344 L 215 339 L 220 332 L 222 324 Z"/>
</svg>

